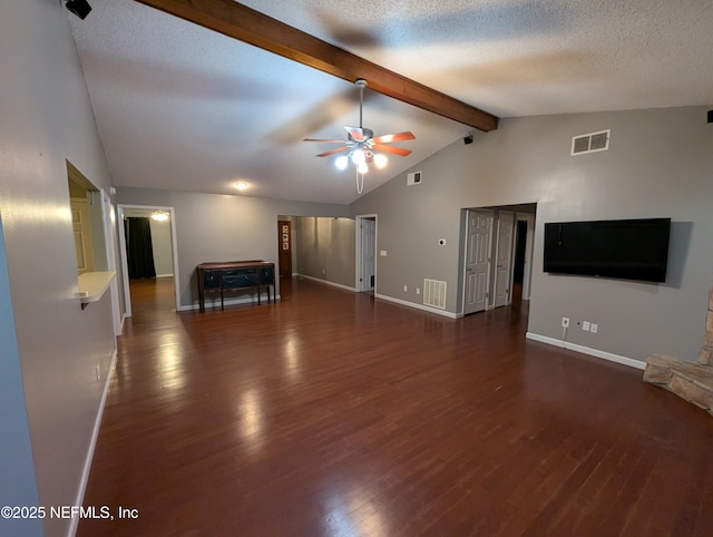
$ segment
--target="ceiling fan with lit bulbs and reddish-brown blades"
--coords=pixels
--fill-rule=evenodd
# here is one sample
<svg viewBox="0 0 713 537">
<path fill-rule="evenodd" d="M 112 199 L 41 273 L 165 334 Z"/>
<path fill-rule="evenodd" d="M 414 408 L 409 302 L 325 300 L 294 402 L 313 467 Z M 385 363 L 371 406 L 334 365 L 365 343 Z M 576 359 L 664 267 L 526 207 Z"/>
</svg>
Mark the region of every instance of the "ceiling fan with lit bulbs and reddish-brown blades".
<svg viewBox="0 0 713 537">
<path fill-rule="evenodd" d="M 342 144 L 342 146 L 338 147 L 336 149 L 320 153 L 318 157 L 329 157 L 330 155 L 348 152 L 346 155 L 341 155 L 334 162 L 334 164 L 339 169 L 345 169 L 350 160 L 356 166 L 356 189 L 359 191 L 359 194 L 361 194 L 363 188 L 364 174 L 369 172 L 370 164 L 373 163 L 378 168 L 383 168 L 388 163 L 388 158 L 384 153 L 390 153 L 392 155 L 399 155 L 402 157 L 411 154 L 410 149 L 393 147 L 387 144 L 412 140 L 416 139 L 416 136 L 413 136 L 412 133 L 404 131 L 377 136 L 374 138 L 374 131 L 362 126 L 364 88 L 367 87 L 367 80 L 364 80 L 363 78 L 359 78 L 354 84 L 359 88 L 359 127 L 344 127 L 344 129 L 346 130 L 345 140 L 304 138 L 303 141 Z"/>
</svg>

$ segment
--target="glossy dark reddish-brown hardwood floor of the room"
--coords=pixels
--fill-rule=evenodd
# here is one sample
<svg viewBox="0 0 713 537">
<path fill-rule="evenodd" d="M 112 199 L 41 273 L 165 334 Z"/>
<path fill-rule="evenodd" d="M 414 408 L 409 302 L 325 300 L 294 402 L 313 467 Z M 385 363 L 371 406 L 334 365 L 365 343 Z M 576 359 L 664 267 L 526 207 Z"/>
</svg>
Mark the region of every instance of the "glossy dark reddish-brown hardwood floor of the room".
<svg viewBox="0 0 713 537">
<path fill-rule="evenodd" d="M 713 535 L 713 420 L 642 371 L 306 280 L 133 286 L 80 536 Z M 168 295 L 168 299 L 166 299 Z"/>
</svg>

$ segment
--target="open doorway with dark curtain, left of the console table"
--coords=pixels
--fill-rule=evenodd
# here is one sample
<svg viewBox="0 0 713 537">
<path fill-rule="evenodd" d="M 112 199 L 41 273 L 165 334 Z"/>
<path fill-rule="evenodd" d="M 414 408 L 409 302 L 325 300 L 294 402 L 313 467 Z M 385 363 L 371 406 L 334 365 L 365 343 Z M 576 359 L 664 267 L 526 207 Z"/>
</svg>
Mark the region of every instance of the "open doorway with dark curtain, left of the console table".
<svg viewBox="0 0 713 537">
<path fill-rule="evenodd" d="M 173 299 L 165 302 L 179 311 L 178 256 L 173 207 L 118 205 L 119 246 L 124 276 L 126 316 L 131 316 L 131 286 L 149 282 L 170 287 Z"/>
</svg>

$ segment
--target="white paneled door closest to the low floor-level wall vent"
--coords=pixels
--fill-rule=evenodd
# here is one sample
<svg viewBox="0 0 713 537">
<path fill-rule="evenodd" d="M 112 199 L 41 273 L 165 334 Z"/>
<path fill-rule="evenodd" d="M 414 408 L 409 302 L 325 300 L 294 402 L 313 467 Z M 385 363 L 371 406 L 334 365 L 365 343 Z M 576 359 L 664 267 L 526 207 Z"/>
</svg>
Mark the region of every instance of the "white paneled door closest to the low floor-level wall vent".
<svg viewBox="0 0 713 537">
<path fill-rule="evenodd" d="M 463 309 L 466 315 L 484 311 L 488 305 L 491 230 L 491 211 L 468 211 L 466 303 Z"/>
</svg>

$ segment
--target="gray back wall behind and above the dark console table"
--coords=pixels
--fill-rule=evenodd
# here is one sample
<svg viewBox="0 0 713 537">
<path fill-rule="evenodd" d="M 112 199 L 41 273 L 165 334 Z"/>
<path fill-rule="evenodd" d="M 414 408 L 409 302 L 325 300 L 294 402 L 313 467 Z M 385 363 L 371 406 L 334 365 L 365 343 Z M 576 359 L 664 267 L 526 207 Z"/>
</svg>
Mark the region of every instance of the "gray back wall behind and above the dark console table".
<svg viewBox="0 0 713 537">
<path fill-rule="evenodd" d="M 264 260 L 276 265 L 279 215 L 349 213 L 344 205 L 147 188 L 117 187 L 116 197 L 117 204 L 174 207 L 182 309 L 198 304 L 195 272 L 201 263 Z"/>
</svg>

